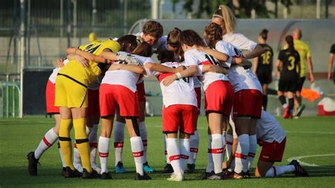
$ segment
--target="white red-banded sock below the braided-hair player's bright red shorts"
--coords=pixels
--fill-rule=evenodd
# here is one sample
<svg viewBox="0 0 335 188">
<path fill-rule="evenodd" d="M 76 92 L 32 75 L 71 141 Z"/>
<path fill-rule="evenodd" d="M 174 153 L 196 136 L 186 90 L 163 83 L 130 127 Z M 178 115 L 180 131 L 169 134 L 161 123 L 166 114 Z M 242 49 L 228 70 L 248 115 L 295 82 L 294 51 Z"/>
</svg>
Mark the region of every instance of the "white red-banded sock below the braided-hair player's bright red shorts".
<svg viewBox="0 0 335 188">
<path fill-rule="evenodd" d="M 212 134 L 211 154 L 214 163 L 214 172 L 222 172 L 222 159 L 223 159 L 223 141 L 222 134 Z"/>
</svg>

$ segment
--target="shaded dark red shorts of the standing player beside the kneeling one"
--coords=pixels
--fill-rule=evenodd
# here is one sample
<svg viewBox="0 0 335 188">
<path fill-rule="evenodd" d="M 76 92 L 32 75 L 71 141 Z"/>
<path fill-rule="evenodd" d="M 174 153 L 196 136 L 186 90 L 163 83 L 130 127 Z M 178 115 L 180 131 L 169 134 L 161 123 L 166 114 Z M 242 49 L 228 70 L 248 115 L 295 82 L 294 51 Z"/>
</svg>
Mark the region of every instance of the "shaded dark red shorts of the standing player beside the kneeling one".
<svg viewBox="0 0 335 188">
<path fill-rule="evenodd" d="M 239 90 L 234 95 L 234 117 L 261 118 L 263 95 L 259 90 Z"/>
</svg>

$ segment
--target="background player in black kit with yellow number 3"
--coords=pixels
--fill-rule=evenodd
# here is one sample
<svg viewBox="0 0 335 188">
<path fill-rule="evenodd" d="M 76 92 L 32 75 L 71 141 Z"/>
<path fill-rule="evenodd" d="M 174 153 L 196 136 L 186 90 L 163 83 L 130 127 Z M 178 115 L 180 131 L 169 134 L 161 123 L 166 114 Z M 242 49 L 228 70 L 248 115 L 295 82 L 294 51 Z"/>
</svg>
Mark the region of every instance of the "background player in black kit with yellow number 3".
<svg viewBox="0 0 335 188">
<path fill-rule="evenodd" d="M 284 108 L 284 118 L 293 118 L 293 107 L 294 107 L 294 94 L 298 89 L 299 84 L 299 71 L 300 71 L 300 56 L 295 50 L 293 44 L 293 37 L 288 35 L 285 37 L 285 41 L 288 45 L 288 49 L 283 49 L 279 52 L 277 60 L 277 70 L 281 73 L 278 86 L 278 99 Z M 298 84 L 297 84 L 298 81 Z M 286 104 L 286 98 L 288 98 L 288 104 Z"/>
</svg>

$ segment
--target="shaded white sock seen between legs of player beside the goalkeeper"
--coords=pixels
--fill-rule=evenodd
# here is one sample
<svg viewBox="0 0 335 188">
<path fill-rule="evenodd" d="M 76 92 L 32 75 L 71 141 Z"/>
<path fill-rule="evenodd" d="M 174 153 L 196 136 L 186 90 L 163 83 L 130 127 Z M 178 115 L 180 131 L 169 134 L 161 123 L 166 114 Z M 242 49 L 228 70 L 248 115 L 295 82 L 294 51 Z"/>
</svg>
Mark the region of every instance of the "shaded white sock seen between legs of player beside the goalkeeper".
<svg viewBox="0 0 335 188">
<path fill-rule="evenodd" d="M 124 144 L 124 126 L 125 123 L 115 122 L 114 124 L 114 151 L 115 151 L 115 166 L 122 162 L 122 151 Z"/>
</svg>

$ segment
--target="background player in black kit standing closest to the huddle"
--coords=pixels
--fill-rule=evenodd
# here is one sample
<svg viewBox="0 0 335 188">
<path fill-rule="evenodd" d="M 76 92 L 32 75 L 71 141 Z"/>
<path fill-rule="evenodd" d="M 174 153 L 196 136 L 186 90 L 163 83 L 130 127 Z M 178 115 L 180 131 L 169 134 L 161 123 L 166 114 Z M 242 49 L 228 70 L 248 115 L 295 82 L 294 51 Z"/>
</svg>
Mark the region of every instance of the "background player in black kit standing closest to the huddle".
<svg viewBox="0 0 335 188">
<path fill-rule="evenodd" d="M 263 88 L 263 109 L 266 110 L 268 103 L 268 95 L 266 95 L 266 89 L 272 81 L 272 61 L 274 60 L 274 51 L 272 48 L 266 44 L 266 39 L 268 37 L 269 30 L 261 30 L 258 35 L 258 42 L 263 49 L 266 50 L 264 54 L 259 57 L 254 58 L 254 74 L 257 75 L 261 87 Z"/>
</svg>

